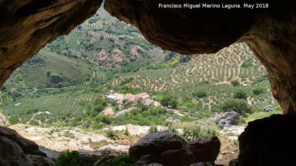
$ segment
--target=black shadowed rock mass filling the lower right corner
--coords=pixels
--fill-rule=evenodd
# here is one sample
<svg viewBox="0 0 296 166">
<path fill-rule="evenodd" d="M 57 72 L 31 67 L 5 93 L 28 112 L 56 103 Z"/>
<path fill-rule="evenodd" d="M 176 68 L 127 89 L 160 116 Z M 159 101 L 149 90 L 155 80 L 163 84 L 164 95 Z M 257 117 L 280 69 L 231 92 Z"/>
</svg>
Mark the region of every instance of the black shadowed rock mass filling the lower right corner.
<svg viewBox="0 0 296 166">
<path fill-rule="evenodd" d="M 238 139 L 239 165 L 295 165 L 295 126 L 296 113 L 249 122 Z"/>
</svg>

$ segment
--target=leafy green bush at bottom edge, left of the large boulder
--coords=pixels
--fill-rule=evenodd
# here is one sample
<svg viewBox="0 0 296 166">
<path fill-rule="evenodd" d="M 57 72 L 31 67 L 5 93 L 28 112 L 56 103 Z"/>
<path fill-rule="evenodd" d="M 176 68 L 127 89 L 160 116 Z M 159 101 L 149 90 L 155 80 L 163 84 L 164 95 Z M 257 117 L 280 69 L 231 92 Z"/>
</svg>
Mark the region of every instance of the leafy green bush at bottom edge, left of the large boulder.
<svg viewBox="0 0 296 166">
<path fill-rule="evenodd" d="M 63 152 L 55 161 L 57 166 L 81 166 L 85 165 L 83 159 L 79 156 L 79 152 L 74 150 Z"/>
</svg>

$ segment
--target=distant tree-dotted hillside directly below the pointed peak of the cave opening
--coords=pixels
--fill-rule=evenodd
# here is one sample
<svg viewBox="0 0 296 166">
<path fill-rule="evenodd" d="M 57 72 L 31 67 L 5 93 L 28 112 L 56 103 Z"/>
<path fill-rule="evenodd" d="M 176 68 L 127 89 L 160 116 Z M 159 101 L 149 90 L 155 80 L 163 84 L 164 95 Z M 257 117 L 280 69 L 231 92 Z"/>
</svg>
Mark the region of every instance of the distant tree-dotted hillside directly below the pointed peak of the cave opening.
<svg viewBox="0 0 296 166">
<path fill-rule="evenodd" d="M 50 51 L 74 57 L 82 56 L 103 67 L 121 67 L 130 62 L 153 61 L 163 51 L 144 39 L 140 31 L 111 17 L 103 7 L 67 36 L 46 45 Z"/>
</svg>

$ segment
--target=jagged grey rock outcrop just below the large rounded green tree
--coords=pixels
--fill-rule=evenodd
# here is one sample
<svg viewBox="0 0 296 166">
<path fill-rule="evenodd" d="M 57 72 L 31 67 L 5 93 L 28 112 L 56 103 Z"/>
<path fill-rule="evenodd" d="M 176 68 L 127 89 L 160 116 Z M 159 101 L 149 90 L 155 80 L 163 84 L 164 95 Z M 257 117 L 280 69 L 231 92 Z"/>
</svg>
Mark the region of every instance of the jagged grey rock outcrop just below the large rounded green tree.
<svg viewBox="0 0 296 166">
<path fill-rule="evenodd" d="M 237 125 L 239 122 L 239 113 L 234 111 L 220 113 L 219 115 L 211 118 L 213 122 L 219 121 L 219 128 L 229 128 L 232 125 Z"/>
</svg>

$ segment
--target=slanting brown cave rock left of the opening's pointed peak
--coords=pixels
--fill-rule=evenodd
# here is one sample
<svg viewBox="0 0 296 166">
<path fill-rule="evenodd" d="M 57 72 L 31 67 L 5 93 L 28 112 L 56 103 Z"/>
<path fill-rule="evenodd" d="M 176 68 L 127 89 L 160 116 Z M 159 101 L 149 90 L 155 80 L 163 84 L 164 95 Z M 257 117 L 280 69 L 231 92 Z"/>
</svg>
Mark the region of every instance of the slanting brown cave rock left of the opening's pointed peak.
<svg viewBox="0 0 296 166">
<path fill-rule="evenodd" d="M 102 0 L 1 0 L 0 87 L 47 43 L 96 14 Z"/>
</svg>

